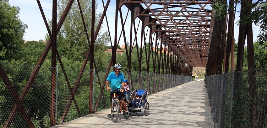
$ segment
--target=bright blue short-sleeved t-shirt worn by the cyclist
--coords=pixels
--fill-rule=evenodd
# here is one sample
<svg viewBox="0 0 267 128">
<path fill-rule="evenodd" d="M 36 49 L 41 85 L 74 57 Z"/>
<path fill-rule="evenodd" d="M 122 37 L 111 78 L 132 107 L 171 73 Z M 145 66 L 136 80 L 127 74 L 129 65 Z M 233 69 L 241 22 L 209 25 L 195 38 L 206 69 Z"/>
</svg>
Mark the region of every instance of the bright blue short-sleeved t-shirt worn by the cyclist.
<svg viewBox="0 0 267 128">
<path fill-rule="evenodd" d="M 108 75 L 108 77 L 107 77 L 106 80 L 107 80 L 108 82 L 110 82 L 110 88 L 111 88 L 112 90 L 114 90 L 114 89 L 117 89 L 117 90 L 122 89 L 122 82 L 125 81 L 123 73 L 119 73 L 119 75 L 117 76 L 117 75 L 115 74 L 115 71 L 114 71 L 114 72 L 111 72 L 111 73 Z"/>
</svg>

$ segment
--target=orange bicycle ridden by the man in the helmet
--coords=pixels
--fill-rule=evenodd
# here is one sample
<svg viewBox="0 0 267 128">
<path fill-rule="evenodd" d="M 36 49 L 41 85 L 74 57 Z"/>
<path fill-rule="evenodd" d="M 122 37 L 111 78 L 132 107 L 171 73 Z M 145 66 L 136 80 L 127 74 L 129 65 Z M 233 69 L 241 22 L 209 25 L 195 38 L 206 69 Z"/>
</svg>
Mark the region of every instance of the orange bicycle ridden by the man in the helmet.
<svg viewBox="0 0 267 128">
<path fill-rule="evenodd" d="M 110 90 L 110 91 L 113 91 L 112 107 L 111 107 L 111 120 L 112 120 L 112 122 L 116 122 L 118 120 L 119 114 L 121 112 L 123 112 L 123 116 L 125 117 L 125 119 L 129 118 L 129 117 L 125 116 L 125 112 L 122 108 L 122 104 L 121 104 L 120 100 L 117 98 L 118 95 L 115 94 L 116 91 L 121 92 L 121 90 L 115 89 L 115 90 Z M 127 112 L 129 113 L 128 106 L 129 106 L 128 103 L 126 103 L 126 109 L 127 109 Z"/>
</svg>

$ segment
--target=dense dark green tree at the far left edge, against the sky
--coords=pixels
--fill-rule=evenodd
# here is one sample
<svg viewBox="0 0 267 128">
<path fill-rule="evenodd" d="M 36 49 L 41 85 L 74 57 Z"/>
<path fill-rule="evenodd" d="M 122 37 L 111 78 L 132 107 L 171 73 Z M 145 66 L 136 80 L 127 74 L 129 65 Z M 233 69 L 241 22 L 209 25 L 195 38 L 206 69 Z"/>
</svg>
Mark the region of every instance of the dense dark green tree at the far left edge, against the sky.
<svg viewBox="0 0 267 128">
<path fill-rule="evenodd" d="M 20 59 L 27 25 L 19 19 L 19 7 L 10 6 L 8 0 L 0 0 L 0 59 Z M 20 56 L 20 57 L 19 57 Z"/>
</svg>

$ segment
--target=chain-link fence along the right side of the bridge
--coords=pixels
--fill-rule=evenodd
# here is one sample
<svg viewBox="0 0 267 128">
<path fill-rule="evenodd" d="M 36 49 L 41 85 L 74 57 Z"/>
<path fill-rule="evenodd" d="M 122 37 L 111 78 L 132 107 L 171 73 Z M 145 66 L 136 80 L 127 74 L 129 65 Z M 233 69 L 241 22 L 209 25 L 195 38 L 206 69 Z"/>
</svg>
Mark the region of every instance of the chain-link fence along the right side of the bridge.
<svg viewBox="0 0 267 128">
<path fill-rule="evenodd" d="M 207 76 L 214 126 L 267 128 L 267 68 Z"/>
</svg>

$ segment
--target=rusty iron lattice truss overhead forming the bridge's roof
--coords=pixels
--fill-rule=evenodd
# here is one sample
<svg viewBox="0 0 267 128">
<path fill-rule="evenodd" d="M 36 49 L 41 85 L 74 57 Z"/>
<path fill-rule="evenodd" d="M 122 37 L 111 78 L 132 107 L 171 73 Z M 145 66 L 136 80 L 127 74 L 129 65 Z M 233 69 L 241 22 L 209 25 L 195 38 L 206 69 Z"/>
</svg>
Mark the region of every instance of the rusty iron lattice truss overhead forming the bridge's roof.
<svg viewBox="0 0 267 128">
<path fill-rule="evenodd" d="M 190 67 L 206 67 L 212 0 L 119 0 Z M 212 29 L 212 28 L 211 28 Z"/>
</svg>

